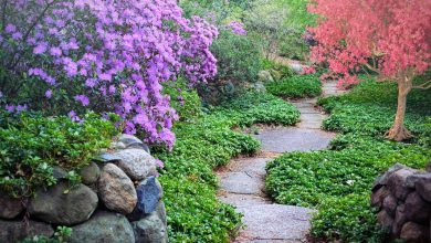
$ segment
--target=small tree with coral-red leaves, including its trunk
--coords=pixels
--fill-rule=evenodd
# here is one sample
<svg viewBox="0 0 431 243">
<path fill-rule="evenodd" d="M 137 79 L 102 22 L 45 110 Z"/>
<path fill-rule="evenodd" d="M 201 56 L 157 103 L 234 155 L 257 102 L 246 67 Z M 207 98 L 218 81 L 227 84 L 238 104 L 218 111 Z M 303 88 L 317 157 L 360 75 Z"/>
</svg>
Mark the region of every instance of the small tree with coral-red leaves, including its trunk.
<svg viewBox="0 0 431 243">
<path fill-rule="evenodd" d="M 397 115 L 387 137 L 411 137 L 403 125 L 407 95 L 431 87 L 431 81 L 413 84 L 430 66 L 431 0 L 314 0 L 309 11 L 319 15 L 311 29 L 318 42 L 313 59 L 327 63 L 341 85 L 359 82 L 355 74 L 362 67 L 397 82 Z"/>
</svg>

